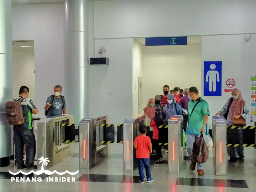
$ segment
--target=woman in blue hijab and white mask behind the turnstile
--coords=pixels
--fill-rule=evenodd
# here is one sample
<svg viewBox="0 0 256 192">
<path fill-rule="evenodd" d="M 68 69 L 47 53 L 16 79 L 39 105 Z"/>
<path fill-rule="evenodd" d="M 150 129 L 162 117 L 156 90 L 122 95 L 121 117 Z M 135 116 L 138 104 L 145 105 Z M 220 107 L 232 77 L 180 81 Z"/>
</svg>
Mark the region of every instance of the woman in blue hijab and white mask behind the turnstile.
<svg viewBox="0 0 256 192">
<path fill-rule="evenodd" d="M 168 123 L 168 119 L 173 115 L 182 115 L 182 108 L 176 103 L 174 96 L 169 94 L 167 97 L 167 104 L 164 106 L 165 120 Z"/>
</svg>

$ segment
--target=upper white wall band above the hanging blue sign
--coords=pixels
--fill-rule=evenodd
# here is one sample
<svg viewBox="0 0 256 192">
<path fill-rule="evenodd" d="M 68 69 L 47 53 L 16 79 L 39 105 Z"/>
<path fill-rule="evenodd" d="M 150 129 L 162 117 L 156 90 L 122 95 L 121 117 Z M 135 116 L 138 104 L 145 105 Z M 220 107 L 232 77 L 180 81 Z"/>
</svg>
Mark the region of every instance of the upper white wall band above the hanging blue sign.
<svg viewBox="0 0 256 192">
<path fill-rule="evenodd" d="M 256 32 L 253 0 L 129 0 L 94 4 L 96 38 Z"/>
</svg>

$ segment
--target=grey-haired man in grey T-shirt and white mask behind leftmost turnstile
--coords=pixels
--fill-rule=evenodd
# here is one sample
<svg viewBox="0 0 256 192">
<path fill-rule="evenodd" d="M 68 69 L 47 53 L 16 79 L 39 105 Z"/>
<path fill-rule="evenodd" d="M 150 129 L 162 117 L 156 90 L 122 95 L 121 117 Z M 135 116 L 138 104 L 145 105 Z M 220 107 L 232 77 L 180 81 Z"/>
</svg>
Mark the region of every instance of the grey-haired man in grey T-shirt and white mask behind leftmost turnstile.
<svg viewBox="0 0 256 192">
<path fill-rule="evenodd" d="M 53 90 L 54 95 L 47 98 L 44 107 L 45 115 L 47 117 L 61 116 L 62 114 L 66 114 L 65 98 L 60 95 L 62 87 L 60 85 L 55 85 Z"/>
</svg>

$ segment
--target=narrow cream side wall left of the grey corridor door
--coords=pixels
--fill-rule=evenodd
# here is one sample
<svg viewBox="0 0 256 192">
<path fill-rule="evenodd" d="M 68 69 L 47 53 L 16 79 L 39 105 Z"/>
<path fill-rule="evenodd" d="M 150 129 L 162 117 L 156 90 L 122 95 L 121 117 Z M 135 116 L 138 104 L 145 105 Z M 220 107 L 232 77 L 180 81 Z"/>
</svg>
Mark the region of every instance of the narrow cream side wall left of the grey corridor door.
<svg viewBox="0 0 256 192">
<path fill-rule="evenodd" d="M 132 115 L 143 114 L 138 111 L 138 77 L 142 77 L 142 44 L 133 39 L 132 44 Z"/>
</svg>

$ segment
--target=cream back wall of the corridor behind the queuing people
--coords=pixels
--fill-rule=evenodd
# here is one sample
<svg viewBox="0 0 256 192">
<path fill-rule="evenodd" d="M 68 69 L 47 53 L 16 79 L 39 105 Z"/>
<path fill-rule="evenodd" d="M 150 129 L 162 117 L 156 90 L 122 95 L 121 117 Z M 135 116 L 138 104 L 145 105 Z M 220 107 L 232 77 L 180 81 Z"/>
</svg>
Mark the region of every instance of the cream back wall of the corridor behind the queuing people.
<svg viewBox="0 0 256 192">
<path fill-rule="evenodd" d="M 149 98 L 163 94 L 163 86 L 170 90 L 191 86 L 201 92 L 201 44 L 178 46 L 144 46 L 143 62 L 143 103 Z"/>
</svg>

